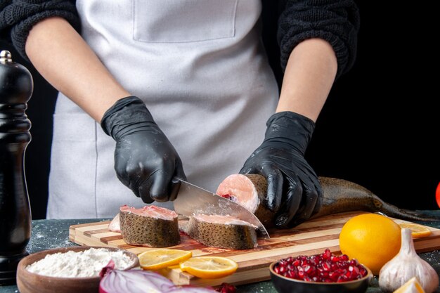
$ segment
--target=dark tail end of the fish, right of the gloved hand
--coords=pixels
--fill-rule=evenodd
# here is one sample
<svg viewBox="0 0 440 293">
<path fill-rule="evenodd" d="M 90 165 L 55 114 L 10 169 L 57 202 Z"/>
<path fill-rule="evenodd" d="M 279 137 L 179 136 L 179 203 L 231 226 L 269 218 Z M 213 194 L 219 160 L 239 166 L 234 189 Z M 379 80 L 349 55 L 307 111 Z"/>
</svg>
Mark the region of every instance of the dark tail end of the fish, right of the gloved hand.
<svg viewBox="0 0 440 293">
<path fill-rule="evenodd" d="M 323 197 L 318 198 L 310 219 L 344 211 L 380 212 L 403 220 L 440 221 L 422 211 L 401 209 L 384 202 L 377 195 L 357 183 L 339 178 L 319 177 Z"/>
</svg>

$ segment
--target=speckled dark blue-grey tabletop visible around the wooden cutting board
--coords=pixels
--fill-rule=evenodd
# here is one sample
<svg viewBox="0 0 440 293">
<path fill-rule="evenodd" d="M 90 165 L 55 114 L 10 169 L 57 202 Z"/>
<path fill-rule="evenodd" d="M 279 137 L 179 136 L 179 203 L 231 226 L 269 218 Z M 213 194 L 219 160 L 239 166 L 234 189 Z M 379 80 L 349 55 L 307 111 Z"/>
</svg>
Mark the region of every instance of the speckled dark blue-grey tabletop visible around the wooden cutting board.
<svg viewBox="0 0 440 293">
<path fill-rule="evenodd" d="M 440 210 L 430 211 L 433 216 L 440 219 Z M 108 219 L 73 219 L 73 220 L 34 220 L 32 221 L 32 236 L 27 251 L 31 254 L 41 250 L 75 246 L 76 244 L 69 240 L 69 227 L 71 225 L 90 223 L 93 221 L 106 221 Z M 419 222 L 426 226 L 440 228 L 439 222 Z M 439 240 L 440 241 L 440 240 Z M 440 252 L 435 250 L 433 252 L 426 252 L 419 254 L 422 259 L 425 259 L 440 275 Z M 18 293 L 17 286 L 0 286 L 1 293 Z M 377 277 L 373 278 L 368 287 L 367 293 L 382 292 L 377 283 Z M 80 292 L 79 292 L 80 293 Z M 241 285 L 237 287 L 237 293 L 276 293 L 270 280 L 264 282 L 257 282 L 248 285 Z M 436 293 L 440 293 L 440 286 L 436 289 Z"/>
</svg>

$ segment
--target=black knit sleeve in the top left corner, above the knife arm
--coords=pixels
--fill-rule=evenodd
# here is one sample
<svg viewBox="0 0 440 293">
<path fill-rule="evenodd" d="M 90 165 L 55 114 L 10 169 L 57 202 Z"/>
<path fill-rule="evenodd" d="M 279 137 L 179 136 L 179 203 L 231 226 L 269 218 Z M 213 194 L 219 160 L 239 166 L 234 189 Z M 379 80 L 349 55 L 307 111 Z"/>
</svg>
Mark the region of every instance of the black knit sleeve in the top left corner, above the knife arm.
<svg viewBox="0 0 440 293">
<path fill-rule="evenodd" d="M 0 38 L 12 42 L 20 55 L 28 59 L 25 44 L 30 30 L 37 22 L 53 16 L 65 18 L 79 31 L 75 0 L 1 0 Z"/>
</svg>

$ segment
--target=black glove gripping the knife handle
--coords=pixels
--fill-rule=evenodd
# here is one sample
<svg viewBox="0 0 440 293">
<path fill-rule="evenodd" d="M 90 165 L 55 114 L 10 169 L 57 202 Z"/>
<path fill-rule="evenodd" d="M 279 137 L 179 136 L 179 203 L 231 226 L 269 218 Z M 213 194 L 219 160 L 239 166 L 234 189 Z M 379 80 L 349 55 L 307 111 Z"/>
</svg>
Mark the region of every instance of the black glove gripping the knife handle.
<svg viewBox="0 0 440 293">
<path fill-rule="evenodd" d="M 186 179 L 181 159 L 141 99 L 118 100 L 101 126 L 116 141 L 115 171 L 124 185 L 146 203 L 176 198 L 180 183 L 172 178 Z"/>
</svg>

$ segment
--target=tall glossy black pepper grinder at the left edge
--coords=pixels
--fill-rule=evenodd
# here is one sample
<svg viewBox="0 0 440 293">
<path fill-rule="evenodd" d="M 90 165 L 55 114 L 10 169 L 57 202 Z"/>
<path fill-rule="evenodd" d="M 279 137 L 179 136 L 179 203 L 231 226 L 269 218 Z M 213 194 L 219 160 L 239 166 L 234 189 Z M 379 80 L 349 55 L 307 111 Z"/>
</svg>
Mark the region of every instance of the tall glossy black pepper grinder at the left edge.
<svg viewBox="0 0 440 293">
<path fill-rule="evenodd" d="M 34 82 L 29 70 L 0 52 L 0 285 L 15 283 L 20 259 L 27 256 L 31 211 L 24 156 L 31 141 L 25 110 Z"/>
</svg>

